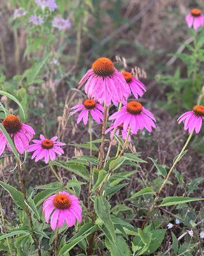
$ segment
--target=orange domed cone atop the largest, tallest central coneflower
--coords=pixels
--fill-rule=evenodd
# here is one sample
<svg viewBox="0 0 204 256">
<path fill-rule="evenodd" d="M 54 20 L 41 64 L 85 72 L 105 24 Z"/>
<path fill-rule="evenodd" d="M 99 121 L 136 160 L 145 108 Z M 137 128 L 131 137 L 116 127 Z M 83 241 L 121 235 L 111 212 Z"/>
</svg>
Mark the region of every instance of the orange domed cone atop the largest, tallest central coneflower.
<svg viewBox="0 0 204 256">
<path fill-rule="evenodd" d="M 113 74 L 115 67 L 113 65 L 113 61 L 102 57 L 94 61 L 92 69 L 96 75 L 106 77 Z"/>
</svg>

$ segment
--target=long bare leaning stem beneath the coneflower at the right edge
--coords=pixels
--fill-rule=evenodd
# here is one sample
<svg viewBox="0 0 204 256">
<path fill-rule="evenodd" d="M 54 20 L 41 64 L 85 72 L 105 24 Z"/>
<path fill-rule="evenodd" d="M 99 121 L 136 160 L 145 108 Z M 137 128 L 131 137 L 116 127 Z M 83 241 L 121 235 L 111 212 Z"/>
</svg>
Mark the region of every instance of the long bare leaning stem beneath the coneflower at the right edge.
<svg viewBox="0 0 204 256">
<path fill-rule="evenodd" d="M 182 158 L 182 155 L 184 153 L 184 151 L 186 150 L 186 147 L 187 145 L 189 144 L 189 141 L 191 140 L 191 137 L 193 136 L 193 132 L 191 132 L 189 134 L 189 137 L 187 138 L 187 141 L 184 145 L 184 147 L 182 148 L 182 150 L 180 151 L 179 155 L 177 156 L 177 158 L 175 159 L 175 161 L 173 162 L 171 168 L 170 168 L 170 171 L 168 172 L 168 174 L 166 175 L 166 179 L 164 179 L 164 182 L 163 184 L 161 184 L 161 187 L 159 188 L 159 191 L 157 192 L 157 195 L 156 197 L 154 198 L 154 202 L 153 204 L 151 205 L 151 207 L 149 208 L 149 211 L 147 212 L 147 216 L 145 217 L 145 220 L 143 221 L 143 224 L 142 224 L 142 229 L 145 227 L 145 224 L 147 223 L 148 219 L 149 219 L 149 216 L 150 214 L 152 213 L 155 205 L 157 204 L 157 200 L 159 199 L 159 195 L 161 194 L 161 191 L 162 189 L 164 188 L 166 182 L 168 181 L 171 173 L 173 172 L 173 169 L 175 168 L 176 164 L 180 161 L 180 159 Z"/>
</svg>

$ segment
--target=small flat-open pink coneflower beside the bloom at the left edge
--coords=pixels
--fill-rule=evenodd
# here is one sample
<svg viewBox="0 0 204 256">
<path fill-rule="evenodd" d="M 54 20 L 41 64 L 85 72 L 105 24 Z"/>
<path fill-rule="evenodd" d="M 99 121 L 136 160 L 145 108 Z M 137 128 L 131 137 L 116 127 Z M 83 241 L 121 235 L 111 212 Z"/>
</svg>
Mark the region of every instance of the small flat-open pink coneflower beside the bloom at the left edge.
<svg viewBox="0 0 204 256">
<path fill-rule="evenodd" d="M 57 141 L 57 136 L 52 137 L 50 140 L 45 138 L 42 134 L 40 135 L 40 140 L 33 140 L 34 144 L 30 145 L 27 152 L 33 152 L 31 159 L 35 158 L 35 162 L 40 159 L 45 158 L 45 163 L 47 164 L 49 160 L 54 161 L 56 154 L 64 154 L 64 150 L 61 146 L 66 145 L 60 141 Z"/>
</svg>

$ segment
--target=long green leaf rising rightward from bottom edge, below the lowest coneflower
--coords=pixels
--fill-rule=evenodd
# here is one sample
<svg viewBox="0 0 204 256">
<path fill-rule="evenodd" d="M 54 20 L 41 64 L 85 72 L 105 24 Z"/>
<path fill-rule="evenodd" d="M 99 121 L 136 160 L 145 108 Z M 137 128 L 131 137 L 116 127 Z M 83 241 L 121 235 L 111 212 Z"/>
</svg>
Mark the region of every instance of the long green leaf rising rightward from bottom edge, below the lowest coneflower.
<svg viewBox="0 0 204 256">
<path fill-rule="evenodd" d="M 82 241 L 85 237 L 89 236 L 92 232 L 98 230 L 98 226 L 93 223 L 85 223 L 80 230 L 75 234 L 71 239 L 69 239 L 69 243 L 65 244 L 61 250 L 59 251 L 59 255 L 68 255 L 67 253 L 80 241 Z"/>
</svg>

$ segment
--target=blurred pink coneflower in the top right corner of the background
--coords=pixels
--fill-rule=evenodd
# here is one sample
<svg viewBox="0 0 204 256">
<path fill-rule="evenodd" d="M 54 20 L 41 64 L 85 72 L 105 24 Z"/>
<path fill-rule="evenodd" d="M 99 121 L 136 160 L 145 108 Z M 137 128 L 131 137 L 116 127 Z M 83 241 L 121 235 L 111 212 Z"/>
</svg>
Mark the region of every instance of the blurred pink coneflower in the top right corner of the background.
<svg viewBox="0 0 204 256">
<path fill-rule="evenodd" d="M 191 13 L 186 16 L 187 26 L 189 28 L 193 27 L 194 29 L 200 28 L 200 26 L 204 26 L 204 16 L 200 9 L 192 9 Z"/>
</svg>

